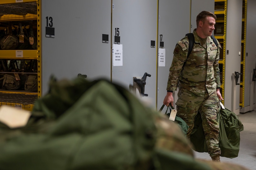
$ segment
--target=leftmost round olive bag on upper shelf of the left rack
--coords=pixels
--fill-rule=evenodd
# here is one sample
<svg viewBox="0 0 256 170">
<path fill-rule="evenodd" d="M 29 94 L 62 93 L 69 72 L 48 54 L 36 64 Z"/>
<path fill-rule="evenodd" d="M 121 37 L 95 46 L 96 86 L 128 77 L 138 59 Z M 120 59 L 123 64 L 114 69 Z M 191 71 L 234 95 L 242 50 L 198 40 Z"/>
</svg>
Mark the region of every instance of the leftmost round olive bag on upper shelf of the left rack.
<svg viewBox="0 0 256 170">
<path fill-rule="evenodd" d="M 7 35 L 5 35 L 0 41 L 1 49 L 2 50 L 14 50 L 19 45 L 19 40 L 16 35 L 12 34 L 11 22 L 9 22 L 9 27 L 7 29 L 7 32 L 8 32 Z"/>
</svg>

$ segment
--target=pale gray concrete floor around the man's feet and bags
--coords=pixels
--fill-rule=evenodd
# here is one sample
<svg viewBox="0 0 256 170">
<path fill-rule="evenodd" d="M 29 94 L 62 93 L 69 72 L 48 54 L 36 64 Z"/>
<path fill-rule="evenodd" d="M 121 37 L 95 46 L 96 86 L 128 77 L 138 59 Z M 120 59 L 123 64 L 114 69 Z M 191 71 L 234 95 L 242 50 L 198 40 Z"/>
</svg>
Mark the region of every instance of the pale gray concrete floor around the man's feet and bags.
<svg viewBox="0 0 256 170">
<path fill-rule="evenodd" d="M 256 110 L 239 114 L 239 119 L 244 125 L 240 132 L 240 150 L 238 157 L 220 157 L 221 162 L 230 162 L 243 165 L 251 170 L 256 170 Z M 195 152 L 195 158 L 211 160 L 208 153 Z"/>
</svg>

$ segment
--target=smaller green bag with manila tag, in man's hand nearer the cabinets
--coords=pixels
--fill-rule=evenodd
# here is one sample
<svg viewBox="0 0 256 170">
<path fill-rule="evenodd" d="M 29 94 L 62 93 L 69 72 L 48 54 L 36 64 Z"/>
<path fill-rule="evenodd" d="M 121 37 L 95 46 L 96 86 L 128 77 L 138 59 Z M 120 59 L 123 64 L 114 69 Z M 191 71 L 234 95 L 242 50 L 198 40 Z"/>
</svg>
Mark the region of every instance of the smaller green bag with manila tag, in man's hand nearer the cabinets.
<svg viewBox="0 0 256 170">
<path fill-rule="evenodd" d="M 165 106 L 165 105 L 163 104 L 163 106 L 160 108 L 159 112 L 161 112 L 161 111 L 163 110 L 164 106 Z M 171 109 L 171 108 L 172 108 L 172 109 Z M 168 110 L 170 111 L 169 113 L 168 113 Z M 182 120 L 182 118 L 180 118 L 179 116 L 176 116 L 176 114 L 177 114 L 177 111 L 174 110 L 174 108 L 173 108 L 172 106 L 171 106 L 171 107 L 168 106 L 168 107 L 167 107 L 167 110 L 166 110 L 165 113 L 164 113 L 164 115 L 165 115 L 169 120 L 172 120 L 172 121 L 174 121 L 175 123 L 177 123 L 177 124 L 180 126 L 182 132 L 186 135 L 186 134 L 187 134 L 188 125 L 186 124 L 186 122 L 185 122 L 184 120 Z"/>
</svg>

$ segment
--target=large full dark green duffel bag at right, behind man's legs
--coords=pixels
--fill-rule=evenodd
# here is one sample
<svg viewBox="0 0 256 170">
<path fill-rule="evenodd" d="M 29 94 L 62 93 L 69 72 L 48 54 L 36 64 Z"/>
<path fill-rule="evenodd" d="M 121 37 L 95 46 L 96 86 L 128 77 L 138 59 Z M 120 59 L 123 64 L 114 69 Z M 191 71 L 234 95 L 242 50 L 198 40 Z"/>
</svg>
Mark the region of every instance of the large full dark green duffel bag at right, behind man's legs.
<svg viewBox="0 0 256 170">
<path fill-rule="evenodd" d="M 227 108 L 221 107 L 217 114 L 219 124 L 219 147 L 221 155 L 227 158 L 236 158 L 239 153 L 240 131 L 244 126 L 236 114 Z M 204 138 L 204 130 L 200 113 L 195 117 L 195 126 L 192 130 L 190 140 L 194 145 L 195 151 L 208 152 Z"/>
</svg>

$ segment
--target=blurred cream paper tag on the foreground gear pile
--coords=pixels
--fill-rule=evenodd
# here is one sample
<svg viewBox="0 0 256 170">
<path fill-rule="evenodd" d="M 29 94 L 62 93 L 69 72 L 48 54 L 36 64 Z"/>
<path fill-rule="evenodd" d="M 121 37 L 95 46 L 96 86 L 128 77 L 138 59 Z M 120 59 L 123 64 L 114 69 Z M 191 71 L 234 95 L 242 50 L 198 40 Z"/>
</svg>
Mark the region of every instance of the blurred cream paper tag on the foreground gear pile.
<svg viewBox="0 0 256 170">
<path fill-rule="evenodd" d="M 0 107 L 0 121 L 10 128 L 23 127 L 28 123 L 30 111 L 16 109 L 10 106 Z"/>
</svg>

